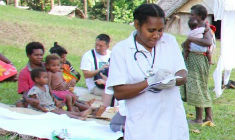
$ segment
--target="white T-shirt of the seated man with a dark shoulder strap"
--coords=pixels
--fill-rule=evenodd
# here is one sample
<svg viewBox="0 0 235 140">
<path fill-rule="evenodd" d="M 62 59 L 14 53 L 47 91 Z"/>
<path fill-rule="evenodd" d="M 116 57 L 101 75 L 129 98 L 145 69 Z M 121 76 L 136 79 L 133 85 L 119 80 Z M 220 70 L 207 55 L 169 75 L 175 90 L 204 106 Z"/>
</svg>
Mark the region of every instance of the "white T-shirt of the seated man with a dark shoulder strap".
<svg viewBox="0 0 235 140">
<path fill-rule="evenodd" d="M 109 50 L 107 50 L 106 55 L 100 55 L 99 53 L 97 53 L 95 51 L 95 56 L 96 56 L 98 69 L 101 68 L 103 65 L 108 64 L 110 54 L 111 54 L 111 51 L 109 51 Z M 80 69 L 81 70 L 88 70 L 88 71 L 94 71 L 95 70 L 94 58 L 93 58 L 93 55 L 91 53 L 91 50 L 89 50 L 88 52 L 86 52 L 83 55 Z M 89 89 L 90 92 L 93 90 L 93 88 L 95 87 L 93 77 L 92 78 L 86 78 L 86 86 L 87 86 L 87 88 Z"/>
</svg>

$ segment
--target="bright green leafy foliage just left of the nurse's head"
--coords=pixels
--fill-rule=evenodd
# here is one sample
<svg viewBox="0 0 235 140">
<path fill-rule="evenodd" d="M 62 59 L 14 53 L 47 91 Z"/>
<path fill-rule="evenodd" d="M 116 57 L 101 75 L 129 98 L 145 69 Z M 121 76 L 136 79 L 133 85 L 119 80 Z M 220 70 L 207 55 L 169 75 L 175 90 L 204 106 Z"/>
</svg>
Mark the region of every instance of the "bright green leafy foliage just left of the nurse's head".
<svg viewBox="0 0 235 140">
<path fill-rule="evenodd" d="M 130 23 L 133 21 L 133 11 L 136 7 L 144 3 L 144 0 L 114 0 L 113 15 L 114 22 Z"/>
</svg>

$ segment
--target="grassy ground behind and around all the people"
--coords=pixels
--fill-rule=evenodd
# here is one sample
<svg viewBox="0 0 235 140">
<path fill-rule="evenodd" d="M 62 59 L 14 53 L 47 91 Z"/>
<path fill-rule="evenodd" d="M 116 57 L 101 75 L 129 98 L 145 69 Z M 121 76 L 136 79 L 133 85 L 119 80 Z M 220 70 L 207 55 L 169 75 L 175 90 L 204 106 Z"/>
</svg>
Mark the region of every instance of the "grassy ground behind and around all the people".
<svg viewBox="0 0 235 140">
<path fill-rule="evenodd" d="M 54 41 L 58 41 L 68 49 L 68 59 L 76 69 L 79 69 L 82 54 L 94 47 L 95 37 L 99 33 L 109 34 L 113 45 L 126 38 L 133 30 L 133 27 L 129 25 L 71 19 L 2 6 L 0 6 L 0 19 L 0 52 L 7 56 L 18 70 L 27 63 L 24 47 L 30 41 L 42 42 L 46 50 Z M 185 39 L 180 35 L 176 35 L 176 38 L 179 43 Z M 217 62 L 219 52 L 218 49 L 215 62 Z M 216 65 L 211 66 L 209 90 L 214 99 L 213 113 L 216 126 L 189 125 L 192 140 L 233 140 L 235 138 L 235 91 L 226 89 L 220 98 L 215 99 L 212 79 L 215 67 Z M 235 80 L 234 72 L 231 79 Z M 85 87 L 83 77 L 78 86 Z M 19 98 L 17 83 L 0 83 L 0 102 L 14 104 Z M 195 116 L 194 107 L 185 104 L 185 110 L 187 114 Z M 192 132 L 196 129 L 200 133 Z M 8 137 L 0 136 L 0 139 L 8 139 Z"/>
</svg>

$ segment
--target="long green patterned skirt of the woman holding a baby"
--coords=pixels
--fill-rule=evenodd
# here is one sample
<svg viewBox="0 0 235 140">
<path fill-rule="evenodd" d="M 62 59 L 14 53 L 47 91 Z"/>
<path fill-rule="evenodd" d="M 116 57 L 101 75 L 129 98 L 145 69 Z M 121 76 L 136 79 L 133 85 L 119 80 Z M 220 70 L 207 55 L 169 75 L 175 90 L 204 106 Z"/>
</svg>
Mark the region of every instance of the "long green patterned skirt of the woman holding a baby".
<svg viewBox="0 0 235 140">
<path fill-rule="evenodd" d="M 188 69 L 187 83 L 181 87 L 184 101 L 196 107 L 211 107 L 212 99 L 208 91 L 210 65 L 203 54 L 189 53 L 185 60 Z"/>
</svg>

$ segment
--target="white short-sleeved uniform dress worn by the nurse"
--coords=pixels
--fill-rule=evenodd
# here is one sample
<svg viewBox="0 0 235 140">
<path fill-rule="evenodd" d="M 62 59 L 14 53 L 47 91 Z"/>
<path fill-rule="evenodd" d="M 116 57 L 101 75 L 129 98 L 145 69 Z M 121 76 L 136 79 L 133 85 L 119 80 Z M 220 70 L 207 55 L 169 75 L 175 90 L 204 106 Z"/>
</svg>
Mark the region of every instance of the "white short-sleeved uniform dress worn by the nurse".
<svg viewBox="0 0 235 140">
<path fill-rule="evenodd" d="M 122 84 L 135 84 L 144 81 L 149 67 L 140 62 L 140 67 L 134 59 L 136 48 L 134 34 L 113 47 L 106 83 L 108 89 Z M 138 50 L 143 51 L 153 60 L 153 51 L 148 52 L 138 44 Z M 164 33 L 156 45 L 155 63 L 153 71 L 167 69 L 172 73 L 186 69 L 184 60 L 176 39 Z M 179 87 L 162 90 L 153 94 L 146 91 L 138 96 L 126 100 L 125 140 L 187 140 L 189 130 L 185 110 L 180 96 Z"/>
</svg>

